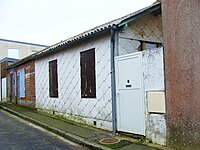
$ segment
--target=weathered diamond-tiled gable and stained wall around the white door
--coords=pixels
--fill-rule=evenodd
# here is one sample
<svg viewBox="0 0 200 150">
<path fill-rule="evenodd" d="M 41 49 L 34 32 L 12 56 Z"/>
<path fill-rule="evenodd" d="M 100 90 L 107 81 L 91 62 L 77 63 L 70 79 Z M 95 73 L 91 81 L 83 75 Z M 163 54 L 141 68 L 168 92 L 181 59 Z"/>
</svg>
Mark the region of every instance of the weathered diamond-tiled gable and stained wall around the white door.
<svg viewBox="0 0 200 150">
<path fill-rule="evenodd" d="M 154 143 L 166 144 L 166 112 L 149 111 L 148 93 L 165 93 L 162 17 L 160 13 L 151 13 L 128 24 L 119 31 L 117 56 L 142 51 L 143 96 L 145 111 L 146 137 Z M 147 50 L 146 50 L 147 49 Z M 151 50 L 150 50 L 151 49 Z M 157 105 L 160 102 L 157 101 Z M 165 101 L 162 103 L 165 108 Z"/>
</svg>

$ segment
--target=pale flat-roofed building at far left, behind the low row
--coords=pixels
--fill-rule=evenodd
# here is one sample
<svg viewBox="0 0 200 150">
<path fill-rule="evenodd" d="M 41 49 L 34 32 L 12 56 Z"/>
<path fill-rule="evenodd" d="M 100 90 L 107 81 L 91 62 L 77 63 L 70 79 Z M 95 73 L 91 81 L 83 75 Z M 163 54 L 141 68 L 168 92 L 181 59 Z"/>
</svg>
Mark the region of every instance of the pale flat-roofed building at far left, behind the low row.
<svg viewBox="0 0 200 150">
<path fill-rule="evenodd" d="M 40 44 L 0 39 L 0 101 L 6 100 L 6 67 L 46 47 Z"/>
</svg>

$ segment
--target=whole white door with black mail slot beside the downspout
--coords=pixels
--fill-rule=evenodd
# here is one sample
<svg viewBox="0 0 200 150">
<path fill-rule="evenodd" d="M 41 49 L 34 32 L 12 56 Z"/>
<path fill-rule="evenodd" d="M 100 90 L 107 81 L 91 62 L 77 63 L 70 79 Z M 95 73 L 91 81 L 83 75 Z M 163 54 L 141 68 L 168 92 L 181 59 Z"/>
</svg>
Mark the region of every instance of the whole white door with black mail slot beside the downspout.
<svg viewBox="0 0 200 150">
<path fill-rule="evenodd" d="M 116 57 L 119 131 L 145 135 L 142 53 Z"/>
</svg>

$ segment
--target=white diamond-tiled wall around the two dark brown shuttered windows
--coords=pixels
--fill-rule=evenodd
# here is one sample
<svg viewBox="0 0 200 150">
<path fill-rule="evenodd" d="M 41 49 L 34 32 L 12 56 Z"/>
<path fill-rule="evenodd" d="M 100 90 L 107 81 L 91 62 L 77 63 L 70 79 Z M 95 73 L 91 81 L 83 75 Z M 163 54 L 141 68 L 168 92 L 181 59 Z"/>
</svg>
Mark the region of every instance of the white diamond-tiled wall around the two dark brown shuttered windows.
<svg viewBox="0 0 200 150">
<path fill-rule="evenodd" d="M 80 52 L 95 48 L 96 98 L 81 98 Z M 58 63 L 58 98 L 49 97 L 49 61 Z M 110 36 L 36 60 L 36 107 L 69 119 L 112 129 Z"/>
</svg>

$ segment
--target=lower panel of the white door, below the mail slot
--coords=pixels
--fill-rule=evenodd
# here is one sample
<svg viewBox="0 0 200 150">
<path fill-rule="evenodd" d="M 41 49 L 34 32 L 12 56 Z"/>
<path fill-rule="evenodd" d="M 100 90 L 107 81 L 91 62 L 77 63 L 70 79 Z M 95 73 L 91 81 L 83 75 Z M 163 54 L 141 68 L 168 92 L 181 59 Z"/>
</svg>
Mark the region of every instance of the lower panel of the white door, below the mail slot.
<svg viewBox="0 0 200 150">
<path fill-rule="evenodd" d="M 144 109 L 138 90 L 120 90 L 119 123 L 121 131 L 144 135 Z"/>
</svg>

